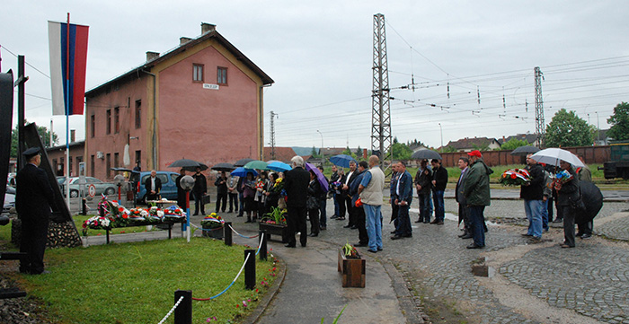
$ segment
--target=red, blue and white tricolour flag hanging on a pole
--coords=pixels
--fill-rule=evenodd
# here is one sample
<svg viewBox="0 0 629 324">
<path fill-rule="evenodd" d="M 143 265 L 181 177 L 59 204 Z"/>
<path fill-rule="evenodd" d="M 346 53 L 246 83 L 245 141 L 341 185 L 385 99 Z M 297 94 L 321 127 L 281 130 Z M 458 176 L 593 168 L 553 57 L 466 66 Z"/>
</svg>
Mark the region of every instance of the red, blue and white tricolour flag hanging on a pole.
<svg viewBox="0 0 629 324">
<path fill-rule="evenodd" d="M 83 115 L 88 29 L 48 22 L 53 115 Z"/>
</svg>

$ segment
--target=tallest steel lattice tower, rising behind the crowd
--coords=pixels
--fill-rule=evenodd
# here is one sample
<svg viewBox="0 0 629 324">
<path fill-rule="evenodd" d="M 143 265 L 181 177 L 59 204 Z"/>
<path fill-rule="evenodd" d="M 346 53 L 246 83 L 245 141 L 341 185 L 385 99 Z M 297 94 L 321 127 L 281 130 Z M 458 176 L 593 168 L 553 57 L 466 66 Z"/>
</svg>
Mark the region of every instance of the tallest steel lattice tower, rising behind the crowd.
<svg viewBox="0 0 629 324">
<path fill-rule="evenodd" d="M 389 68 L 386 60 L 385 15 L 374 14 L 374 62 L 371 94 L 371 150 L 380 152 L 380 167 L 393 162 L 391 153 L 391 111 L 389 104 Z M 389 164 L 390 165 L 390 164 Z"/>
</svg>

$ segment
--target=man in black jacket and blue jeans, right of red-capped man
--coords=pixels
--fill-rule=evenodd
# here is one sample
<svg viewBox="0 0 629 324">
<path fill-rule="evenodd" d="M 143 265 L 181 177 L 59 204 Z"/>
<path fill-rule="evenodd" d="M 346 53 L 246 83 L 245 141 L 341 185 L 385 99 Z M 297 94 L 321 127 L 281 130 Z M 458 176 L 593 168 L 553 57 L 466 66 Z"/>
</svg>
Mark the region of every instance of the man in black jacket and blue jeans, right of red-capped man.
<svg viewBox="0 0 629 324">
<path fill-rule="evenodd" d="M 543 203 L 544 203 L 544 168 L 527 155 L 527 171 L 531 175 L 530 182 L 520 188 L 519 197 L 524 199 L 524 211 L 528 219 L 528 231 L 522 236 L 530 238 L 529 243 L 542 241 Z"/>
</svg>

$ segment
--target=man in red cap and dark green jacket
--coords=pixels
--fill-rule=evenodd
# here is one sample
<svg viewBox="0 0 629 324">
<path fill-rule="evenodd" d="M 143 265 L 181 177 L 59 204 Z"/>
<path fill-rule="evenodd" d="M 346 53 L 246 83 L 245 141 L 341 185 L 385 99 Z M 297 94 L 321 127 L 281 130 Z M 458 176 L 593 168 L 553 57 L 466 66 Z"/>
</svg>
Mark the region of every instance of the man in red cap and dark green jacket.
<svg viewBox="0 0 629 324">
<path fill-rule="evenodd" d="M 483 154 L 480 151 L 474 150 L 467 155 L 472 164 L 467 171 L 463 195 L 474 236 L 474 242 L 468 245 L 467 249 L 483 249 L 485 246 L 483 211 L 485 206 L 489 206 L 492 202 L 489 192 L 489 175 L 493 171 L 483 162 Z"/>
</svg>

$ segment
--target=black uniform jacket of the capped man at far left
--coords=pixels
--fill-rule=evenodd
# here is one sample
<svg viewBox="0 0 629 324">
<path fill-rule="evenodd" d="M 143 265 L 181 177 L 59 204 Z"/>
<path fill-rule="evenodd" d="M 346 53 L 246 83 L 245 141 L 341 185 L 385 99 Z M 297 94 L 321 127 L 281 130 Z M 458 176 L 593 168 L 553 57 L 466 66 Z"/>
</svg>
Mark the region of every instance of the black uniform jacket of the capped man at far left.
<svg viewBox="0 0 629 324">
<path fill-rule="evenodd" d="M 22 222 L 48 226 L 54 194 L 46 171 L 29 163 L 17 172 L 15 181 L 15 209 Z"/>
</svg>

